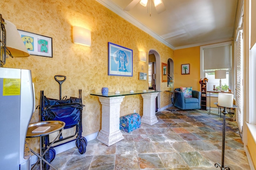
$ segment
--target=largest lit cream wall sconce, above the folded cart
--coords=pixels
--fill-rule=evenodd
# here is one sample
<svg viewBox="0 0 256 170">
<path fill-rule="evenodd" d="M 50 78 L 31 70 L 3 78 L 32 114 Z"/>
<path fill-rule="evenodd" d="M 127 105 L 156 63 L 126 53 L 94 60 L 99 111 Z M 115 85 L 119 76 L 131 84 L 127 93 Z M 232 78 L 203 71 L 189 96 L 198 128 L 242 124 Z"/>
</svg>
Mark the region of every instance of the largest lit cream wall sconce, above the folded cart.
<svg viewBox="0 0 256 170">
<path fill-rule="evenodd" d="M 91 31 L 78 26 L 73 26 L 73 42 L 75 44 L 91 46 Z"/>
</svg>

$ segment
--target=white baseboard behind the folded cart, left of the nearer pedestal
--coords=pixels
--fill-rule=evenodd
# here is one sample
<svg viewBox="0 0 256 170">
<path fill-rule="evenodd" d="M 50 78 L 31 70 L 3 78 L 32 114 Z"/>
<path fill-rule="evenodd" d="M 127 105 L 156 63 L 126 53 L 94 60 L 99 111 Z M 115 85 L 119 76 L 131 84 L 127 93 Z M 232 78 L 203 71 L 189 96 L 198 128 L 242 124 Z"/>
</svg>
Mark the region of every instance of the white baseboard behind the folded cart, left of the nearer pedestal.
<svg viewBox="0 0 256 170">
<path fill-rule="evenodd" d="M 98 136 L 98 133 L 99 132 L 92 133 L 90 135 L 85 136 L 85 138 L 88 142 L 92 141 L 93 139 L 96 139 L 96 137 Z M 72 149 L 74 147 L 76 147 L 76 141 L 72 141 L 64 145 L 54 147 L 54 150 L 56 151 L 56 154 L 59 154 L 59 153 L 65 152 L 66 150 Z M 38 160 L 38 157 L 36 155 L 31 156 L 31 164 L 35 164 L 37 160 Z"/>
</svg>

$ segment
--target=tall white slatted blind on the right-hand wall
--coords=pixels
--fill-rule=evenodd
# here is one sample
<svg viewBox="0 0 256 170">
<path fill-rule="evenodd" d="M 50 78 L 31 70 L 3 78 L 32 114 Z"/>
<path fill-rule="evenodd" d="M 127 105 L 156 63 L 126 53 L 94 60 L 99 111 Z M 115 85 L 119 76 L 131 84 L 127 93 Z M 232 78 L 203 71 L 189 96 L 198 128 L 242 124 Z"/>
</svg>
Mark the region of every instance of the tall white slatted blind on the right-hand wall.
<svg viewBox="0 0 256 170">
<path fill-rule="evenodd" d="M 239 31 L 238 40 L 236 42 L 236 109 L 237 123 L 239 131 L 243 129 L 243 39 L 242 33 Z"/>
</svg>

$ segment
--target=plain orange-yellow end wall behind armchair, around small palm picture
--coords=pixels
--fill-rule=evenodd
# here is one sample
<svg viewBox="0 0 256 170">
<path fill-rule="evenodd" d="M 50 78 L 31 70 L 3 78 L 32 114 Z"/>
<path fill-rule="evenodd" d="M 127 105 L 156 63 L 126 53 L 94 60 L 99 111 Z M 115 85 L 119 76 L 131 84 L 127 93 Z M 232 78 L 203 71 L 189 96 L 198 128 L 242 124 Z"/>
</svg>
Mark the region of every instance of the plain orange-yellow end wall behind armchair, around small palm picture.
<svg viewBox="0 0 256 170">
<path fill-rule="evenodd" d="M 181 65 L 190 64 L 190 74 L 181 74 Z M 200 90 L 200 47 L 174 51 L 174 88 L 191 87 Z"/>
</svg>

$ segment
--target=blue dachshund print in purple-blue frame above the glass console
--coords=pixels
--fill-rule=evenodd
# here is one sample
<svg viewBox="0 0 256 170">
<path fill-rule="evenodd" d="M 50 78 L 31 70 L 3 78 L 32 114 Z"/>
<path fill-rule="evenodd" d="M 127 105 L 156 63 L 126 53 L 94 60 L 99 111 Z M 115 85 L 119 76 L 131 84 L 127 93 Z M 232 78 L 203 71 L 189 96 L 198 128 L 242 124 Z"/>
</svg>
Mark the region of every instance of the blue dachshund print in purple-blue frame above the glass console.
<svg viewBox="0 0 256 170">
<path fill-rule="evenodd" d="M 108 75 L 132 77 L 132 49 L 108 42 Z"/>
</svg>

